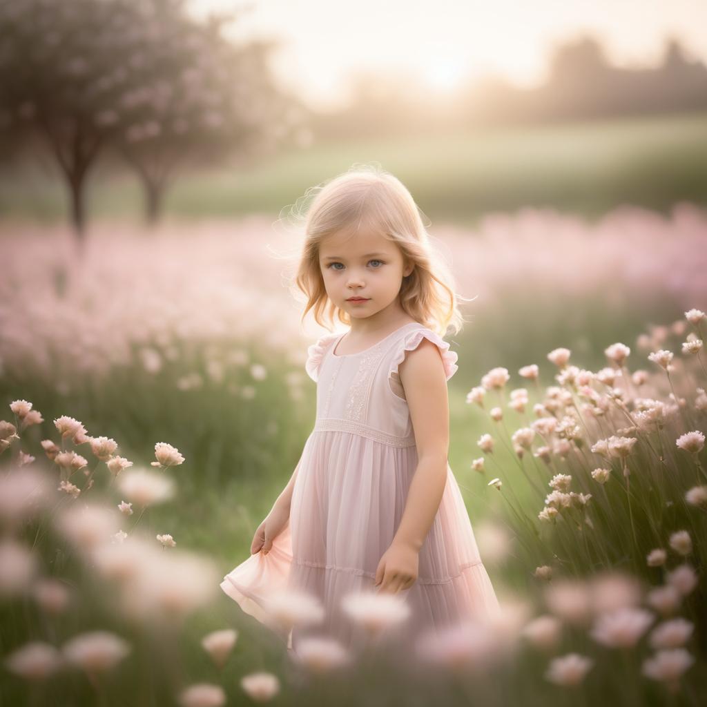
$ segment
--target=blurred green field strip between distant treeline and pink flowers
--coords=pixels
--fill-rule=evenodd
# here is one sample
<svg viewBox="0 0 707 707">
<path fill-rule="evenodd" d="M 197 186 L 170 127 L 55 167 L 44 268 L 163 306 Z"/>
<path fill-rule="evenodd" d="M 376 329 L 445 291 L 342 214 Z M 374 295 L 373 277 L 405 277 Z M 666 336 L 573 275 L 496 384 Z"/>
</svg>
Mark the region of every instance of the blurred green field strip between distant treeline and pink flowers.
<svg viewBox="0 0 707 707">
<path fill-rule="evenodd" d="M 707 114 L 323 142 L 247 167 L 185 174 L 168 193 L 165 213 L 276 216 L 308 187 L 370 161 L 399 176 L 433 221 L 474 223 L 488 211 L 522 206 L 589 218 L 625 203 L 665 211 L 676 201 L 706 202 Z M 64 192 L 46 169 L 4 168 L 0 214 L 61 221 Z M 136 178 L 107 163 L 93 173 L 88 198 L 92 218 L 141 218 Z"/>
</svg>

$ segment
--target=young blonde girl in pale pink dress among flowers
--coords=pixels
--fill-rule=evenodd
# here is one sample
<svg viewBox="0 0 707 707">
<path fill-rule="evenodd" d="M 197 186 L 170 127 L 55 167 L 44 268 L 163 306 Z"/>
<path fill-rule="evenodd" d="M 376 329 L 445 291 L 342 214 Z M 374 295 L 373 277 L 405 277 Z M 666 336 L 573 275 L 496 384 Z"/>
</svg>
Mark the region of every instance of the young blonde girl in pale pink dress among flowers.
<svg viewBox="0 0 707 707">
<path fill-rule="evenodd" d="M 221 588 L 268 624 L 267 593 L 308 592 L 325 621 L 296 627 L 344 645 L 356 627 L 341 601 L 405 597 L 399 636 L 498 611 L 449 467 L 446 381 L 457 354 L 440 337 L 461 317 L 450 277 L 399 180 L 358 168 L 320 189 L 296 276 L 303 317 L 349 329 L 308 349 L 317 417 L 292 478 L 257 528 L 251 556 Z"/>
</svg>

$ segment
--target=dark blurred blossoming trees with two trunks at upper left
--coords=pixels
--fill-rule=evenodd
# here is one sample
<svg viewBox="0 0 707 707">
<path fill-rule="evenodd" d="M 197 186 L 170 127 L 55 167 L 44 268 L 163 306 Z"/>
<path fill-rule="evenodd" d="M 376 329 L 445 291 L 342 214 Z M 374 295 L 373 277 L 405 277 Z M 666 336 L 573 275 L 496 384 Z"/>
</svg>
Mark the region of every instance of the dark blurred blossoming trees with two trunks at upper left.
<svg viewBox="0 0 707 707">
<path fill-rule="evenodd" d="M 226 19 L 199 22 L 183 0 L 0 0 L 0 126 L 51 148 L 79 245 L 106 147 L 140 175 L 154 220 L 177 165 L 301 139 L 303 113 L 271 83 L 272 45 L 228 42 Z"/>
</svg>

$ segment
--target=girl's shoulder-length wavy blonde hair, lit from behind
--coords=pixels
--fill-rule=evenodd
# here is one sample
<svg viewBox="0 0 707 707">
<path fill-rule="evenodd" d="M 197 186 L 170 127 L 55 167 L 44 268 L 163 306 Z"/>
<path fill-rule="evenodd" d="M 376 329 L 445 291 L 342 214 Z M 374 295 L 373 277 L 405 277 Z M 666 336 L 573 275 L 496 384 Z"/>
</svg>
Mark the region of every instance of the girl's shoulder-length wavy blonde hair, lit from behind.
<svg viewBox="0 0 707 707">
<path fill-rule="evenodd" d="M 319 262 L 322 240 L 362 222 L 399 247 L 404 261 L 414 264 L 400 287 L 402 308 L 424 326 L 444 336 L 456 334 L 463 317 L 457 307 L 452 275 L 430 244 L 421 210 L 397 177 L 374 165 L 354 165 L 322 185 L 309 189 L 314 197 L 306 210 L 304 243 L 294 284 L 305 295 L 302 320 L 313 310 L 317 324 L 334 329 L 335 320 L 346 325 L 351 317 L 327 296 Z"/>
</svg>

